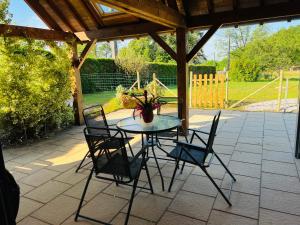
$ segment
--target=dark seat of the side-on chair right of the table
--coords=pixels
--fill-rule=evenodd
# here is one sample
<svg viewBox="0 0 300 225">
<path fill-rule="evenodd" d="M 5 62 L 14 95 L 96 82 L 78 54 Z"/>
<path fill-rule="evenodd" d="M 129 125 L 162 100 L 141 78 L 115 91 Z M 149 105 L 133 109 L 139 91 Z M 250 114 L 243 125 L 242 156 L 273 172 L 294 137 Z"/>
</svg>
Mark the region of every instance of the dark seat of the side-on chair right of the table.
<svg viewBox="0 0 300 225">
<path fill-rule="evenodd" d="M 181 146 L 176 146 L 169 154 L 168 156 L 174 159 L 177 159 L 180 155 Z M 189 152 L 189 154 L 196 160 L 192 159 L 186 151 Z M 203 151 L 200 151 L 198 149 L 189 148 L 186 150 L 182 150 L 181 156 L 179 158 L 181 161 L 188 162 L 191 164 L 199 164 L 203 165 L 205 160 L 205 149 L 203 148 Z"/>
</svg>

